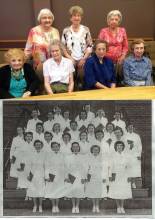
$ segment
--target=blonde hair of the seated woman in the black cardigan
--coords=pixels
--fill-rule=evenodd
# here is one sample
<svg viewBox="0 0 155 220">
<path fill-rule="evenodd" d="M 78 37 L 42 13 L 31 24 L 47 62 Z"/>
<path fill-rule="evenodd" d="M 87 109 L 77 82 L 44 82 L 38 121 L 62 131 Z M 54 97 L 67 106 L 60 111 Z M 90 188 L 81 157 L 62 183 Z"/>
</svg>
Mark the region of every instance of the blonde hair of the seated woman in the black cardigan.
<svg viewBox="0 0 155 220">
<path fill-rule="evenodd" d="M 7 63 L 10 63 L 12 58 L 18 58 L 20 57 L 23 60 L 23 63 L 26 61 L 26 56 L 24 54 L 24 51 L 22 49 L 19 48 L 13 48 L 13 49 L 9 49 L 5 54 L 5 61 Z"/>
</svg>

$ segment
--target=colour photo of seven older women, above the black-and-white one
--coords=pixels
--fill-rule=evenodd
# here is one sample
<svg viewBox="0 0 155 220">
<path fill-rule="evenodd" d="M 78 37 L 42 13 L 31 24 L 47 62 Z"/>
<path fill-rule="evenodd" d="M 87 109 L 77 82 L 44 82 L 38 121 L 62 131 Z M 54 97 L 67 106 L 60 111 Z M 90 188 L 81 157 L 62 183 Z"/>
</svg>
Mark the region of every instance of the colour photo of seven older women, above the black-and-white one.
<svg viewBox="0 0 155 220">
<path fill-rule="evenodd" d="M 136 2 L 132 6 L 137 7 Z M 90 14 L 96 7 L 93 1 L 89 7 L 86 3 L 69 0 L 66 5 L 54 0 L 44 4 L 35 0 L 27 2 L 25 7 L 30 8 L 30 15 L 25 17 L 25 25 L 20 21 L 13 23 L 22 26 L 18 33 L 21 40 L 13 33 L 13 40 L 8 40 L 6 31 L 6 40 L 0 42 L 0 98 L 38 96 L 39 99 L 45 95 L 52 98 L 58 93 L 88 91 L 89 94 L 90 90 L 100 94 L 103 90 L 110 93 L 115 88 L 119 93 L 119 88 L 126 91 L 133 87 L 138 91 L 143 88 L 144 96 L 145 89 L 148 92 L 151 89 L 149 97 L 154 98 L 155 43 L 151 4 L 155 7 L 152 2 L 147 4 L 150 26 L 145 26 L 146 30 L 143 33 L 139 30 L 138 34 L 134 30 L 134 25 L 139 27 L 138 21 L 137 24 L 131 21 L 131 28 L 129 20 L 132 18 L 127 19 L 125 7 L 130 6 L 127 1 L 119 6 L 103 4 L 104 13 L 101 19 L 95 17 L 94 25 L 90 22 Z M 145 9 L 144 0 L 142 5 Z M 7 7 L 7 2 L 4 6 Z M 101 13 L 99 7 L 96 11 Z M 5 19 L 4 12 L 2 16 Z M 12 46 L 8 48 L 7 42 Z"/>
</svg>

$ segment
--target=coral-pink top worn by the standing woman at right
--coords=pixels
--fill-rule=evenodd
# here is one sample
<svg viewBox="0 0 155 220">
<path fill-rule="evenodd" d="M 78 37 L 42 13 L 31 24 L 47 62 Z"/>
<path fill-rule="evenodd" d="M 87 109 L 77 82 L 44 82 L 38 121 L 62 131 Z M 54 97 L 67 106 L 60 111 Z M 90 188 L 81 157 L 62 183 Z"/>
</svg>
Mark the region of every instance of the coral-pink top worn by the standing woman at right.
<svg viewBox="0 0 155 220">
<path fill-rule="evenodd" d="M 109 27 L 102 28 L 98 38 L 108 43 L 107 57 L 117 62 L 119 57 L 128 52 L 128 39 L 125 28 L 118 27 L 117 34 L 114 36 Z"/>
</svg>

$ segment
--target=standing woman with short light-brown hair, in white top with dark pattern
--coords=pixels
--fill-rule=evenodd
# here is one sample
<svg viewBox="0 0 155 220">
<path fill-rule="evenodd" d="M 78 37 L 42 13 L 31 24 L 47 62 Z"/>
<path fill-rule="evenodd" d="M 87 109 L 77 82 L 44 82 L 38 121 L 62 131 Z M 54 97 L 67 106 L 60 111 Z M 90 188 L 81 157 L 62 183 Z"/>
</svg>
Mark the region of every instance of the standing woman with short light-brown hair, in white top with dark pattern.
<svg viewBox="0 0 155 220">
<path fill-rule="evenodd" d="M 91 53 L 92 38 L 89 28 L 81 24 L 83 9 L 72 6 L 69 14 L 71 26 L 63 30 L 62 42 L 66 46 L 65 56 L 73 61 L 77 68 L 77 80 L 82 82 L 82 68 Z"/>
</svg>

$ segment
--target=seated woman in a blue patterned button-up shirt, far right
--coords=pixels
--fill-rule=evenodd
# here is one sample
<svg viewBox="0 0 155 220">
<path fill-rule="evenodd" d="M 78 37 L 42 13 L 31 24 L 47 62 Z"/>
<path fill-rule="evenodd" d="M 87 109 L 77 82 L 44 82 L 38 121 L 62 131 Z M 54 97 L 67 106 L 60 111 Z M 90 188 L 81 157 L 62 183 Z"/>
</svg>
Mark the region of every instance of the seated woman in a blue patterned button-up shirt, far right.
<svg viewBox="0 0 155 220">
<path fill-rule="evenodd" d="M 126 86 L 150 86 L 152 84 L 152 64 L 144 56 L 144 40 L 135 39 L 131 43 L 132 54 L 123 64 L 124 84 Z"/>
</svg>

